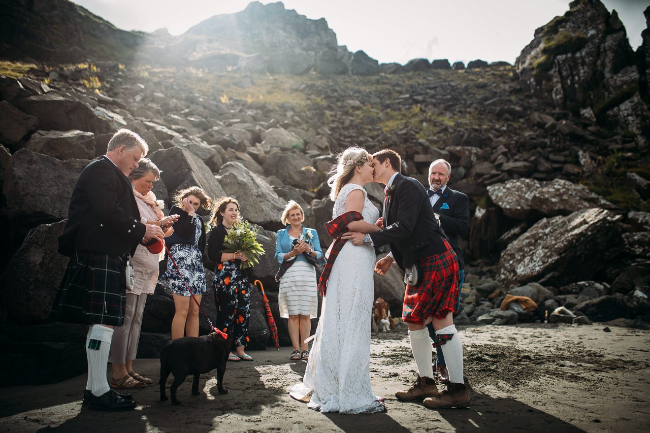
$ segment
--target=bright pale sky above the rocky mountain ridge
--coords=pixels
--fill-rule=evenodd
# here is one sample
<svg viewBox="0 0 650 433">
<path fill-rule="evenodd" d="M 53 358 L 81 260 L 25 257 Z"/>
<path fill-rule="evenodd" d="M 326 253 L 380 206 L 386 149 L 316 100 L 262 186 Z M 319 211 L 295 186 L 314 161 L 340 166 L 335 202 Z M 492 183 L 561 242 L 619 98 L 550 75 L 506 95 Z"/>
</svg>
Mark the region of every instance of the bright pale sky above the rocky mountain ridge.
<svg viewBox="0 0 650 433">
<path fill-rule="evenodd" d="M 648 0 L 602 0 L 616 9 L 632 49 L 641 44 Z M 249 0 L 74 0 L 124 30 L 171 34 L 218 14 L 244 9 Z M 261 3 L 274 3 L 262 0 Z M 380 63 L 410 59 L 483 59 L 513 63 L 534 31 L 569 9 L 570 0 L 285 0 L 285 8 L 325 18 L 339 45 L 363 49 Z"/>
</svg>

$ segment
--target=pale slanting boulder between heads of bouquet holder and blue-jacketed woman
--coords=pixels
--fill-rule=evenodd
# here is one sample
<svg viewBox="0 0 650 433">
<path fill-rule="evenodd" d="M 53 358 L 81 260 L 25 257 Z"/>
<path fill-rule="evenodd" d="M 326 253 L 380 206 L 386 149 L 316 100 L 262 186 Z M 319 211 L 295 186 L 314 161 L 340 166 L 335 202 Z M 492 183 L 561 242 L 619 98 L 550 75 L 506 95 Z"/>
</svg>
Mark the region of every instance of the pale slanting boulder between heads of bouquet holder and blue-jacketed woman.
<svg viewBox="0 0 650 433">
<path fill-rule="evenodd" d="M 241 163 L 229 162 L 222 166 L 216 176 L 226 195 L 237 198 L 244 219 L 269 230 L 283 228 L 280 217 L 283 200 L 259 176 Z"/>
</svg>

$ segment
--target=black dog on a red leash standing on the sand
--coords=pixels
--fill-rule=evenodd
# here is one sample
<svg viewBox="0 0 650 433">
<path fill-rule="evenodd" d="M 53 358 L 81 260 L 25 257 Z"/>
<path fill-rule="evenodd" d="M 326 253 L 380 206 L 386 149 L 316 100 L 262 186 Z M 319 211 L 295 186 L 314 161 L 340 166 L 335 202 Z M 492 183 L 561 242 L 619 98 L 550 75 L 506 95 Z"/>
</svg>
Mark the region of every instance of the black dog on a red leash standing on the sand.
<svg viewBox="0 0 650 433">
<path fill-rule="evenodd" d="M 224 373 L 230 352 L 231 337 L 224 339 L 213 332 L 200 337 L 183 337 L 168 341 L 161 351 L 161 401 L 167 400 L 165 384 L 170 373 L 174 374 L 174 383 L 170 387 L 172 404 L 181 404 L 176 399 L 176 390 L 188 374 L 194 374 L 192 395 L 199 395 L 199 376 L 216 368 L 216 384 L 220 394 L 227 394 L 224 389 Z"/>
</svg>

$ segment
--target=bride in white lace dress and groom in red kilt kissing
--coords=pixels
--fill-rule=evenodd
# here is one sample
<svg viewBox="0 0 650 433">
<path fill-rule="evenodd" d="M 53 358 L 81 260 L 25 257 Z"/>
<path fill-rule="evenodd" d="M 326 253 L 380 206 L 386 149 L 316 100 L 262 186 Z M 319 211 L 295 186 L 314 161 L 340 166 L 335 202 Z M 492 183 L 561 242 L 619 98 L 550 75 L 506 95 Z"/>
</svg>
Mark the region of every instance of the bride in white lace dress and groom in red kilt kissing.
<svg viewBox="0 0 650 433">
<path fill-rule="evenodd" d="M 289 389 L 291 397 L 320 412 L 385 411 L 383 399 L 370 387 L 370 311 L 373 271 L 383 275 L 393 262 L 408 277 L 402 319 L 419 373 L 409 389 L 395 396 L 424 400 L 428 408 L 469 404 L 463 348 L 452 319 L 458 311 L 458 260 L 434 218 L 426 190 L 416 179 L 403 176 L 401 166 L 393 150 L 370 155 L 352 147 L 338 155 L 330 171 L 333 219 L 325 226 L 334 241 L 318 282 L 322 311 L 303 382 Z M 372 181 L 386 185 L 381 218 L 363 189 Z M 376 261 L 374 246 L 385 244 L 391 253 Z M 443 391 L 433 379 L 429 322 L 447 360 L 450 384 Z"/>
</svg>

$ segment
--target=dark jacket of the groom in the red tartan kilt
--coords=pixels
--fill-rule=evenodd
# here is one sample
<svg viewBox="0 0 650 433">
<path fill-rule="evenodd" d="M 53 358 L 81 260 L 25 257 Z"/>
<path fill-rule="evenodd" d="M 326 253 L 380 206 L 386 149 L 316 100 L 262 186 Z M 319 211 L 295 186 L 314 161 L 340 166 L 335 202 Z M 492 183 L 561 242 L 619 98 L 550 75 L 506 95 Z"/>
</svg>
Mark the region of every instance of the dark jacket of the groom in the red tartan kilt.
<svg viewBox="0 0 650 433">
<path fill-rule="evenodd" d="M 447 250 L 445 232 L 438 227 L 426 190 L 413 177 L 398 173 L 386 204 L 384 228 L 370 233 L 375 246 L 390 244 L 393 257 L 404 270 L 425 257 Z"/>
</svg>

